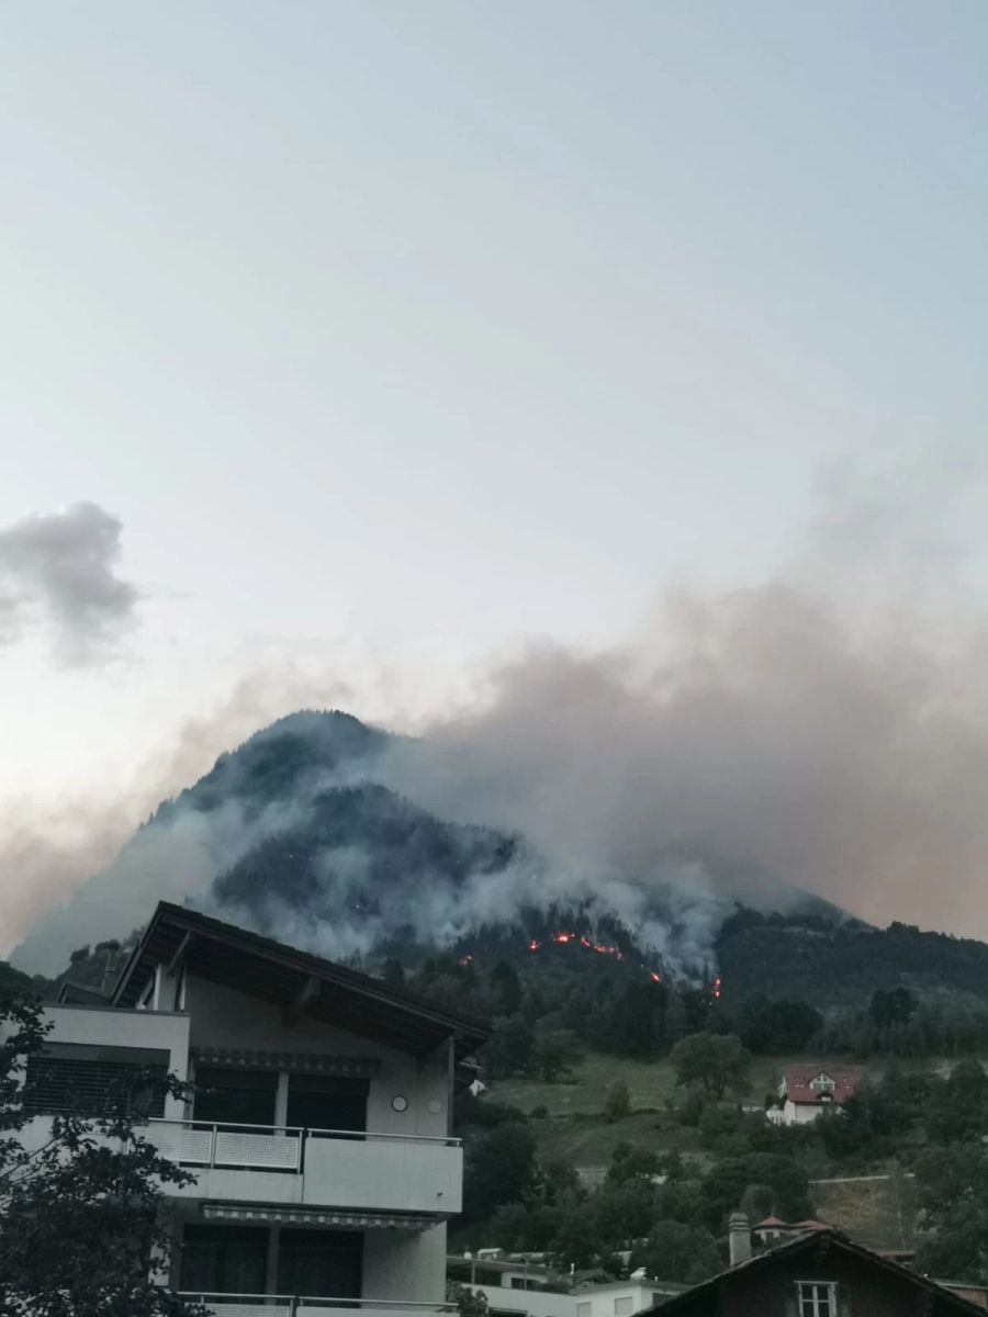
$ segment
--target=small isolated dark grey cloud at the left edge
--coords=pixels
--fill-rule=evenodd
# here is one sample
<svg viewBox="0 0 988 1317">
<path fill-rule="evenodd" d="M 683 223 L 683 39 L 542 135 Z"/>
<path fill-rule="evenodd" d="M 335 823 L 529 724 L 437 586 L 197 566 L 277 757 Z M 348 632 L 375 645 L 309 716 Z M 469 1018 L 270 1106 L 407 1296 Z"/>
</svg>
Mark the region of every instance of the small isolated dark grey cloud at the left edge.
<svg viewBox="0 0 988 1317">
<path fill-rule="evenodd" d="M 45 630 L 69 664 L 105 655 L 140 591 L 116 574 L 121 523 L 96 503 L 33 512 L 0 531 L 0 644 Z"/>
</svg>

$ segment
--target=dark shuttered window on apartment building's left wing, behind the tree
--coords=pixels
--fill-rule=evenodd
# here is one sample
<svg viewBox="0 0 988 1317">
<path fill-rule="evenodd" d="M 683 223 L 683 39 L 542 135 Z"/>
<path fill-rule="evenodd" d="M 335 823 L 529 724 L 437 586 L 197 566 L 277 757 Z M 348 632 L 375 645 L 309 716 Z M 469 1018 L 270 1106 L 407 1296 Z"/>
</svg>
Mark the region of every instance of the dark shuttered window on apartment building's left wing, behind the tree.
<svg viewBox="0 0 988 1317">
<path fill-rule="evenodd" d="M 24 1110 L 29 1115 L 115 1110 L 165 1114 L 170 1055 L 151 1047 L 96 1047 L 49 1043 L 28 1058 Z"/>
</svg>

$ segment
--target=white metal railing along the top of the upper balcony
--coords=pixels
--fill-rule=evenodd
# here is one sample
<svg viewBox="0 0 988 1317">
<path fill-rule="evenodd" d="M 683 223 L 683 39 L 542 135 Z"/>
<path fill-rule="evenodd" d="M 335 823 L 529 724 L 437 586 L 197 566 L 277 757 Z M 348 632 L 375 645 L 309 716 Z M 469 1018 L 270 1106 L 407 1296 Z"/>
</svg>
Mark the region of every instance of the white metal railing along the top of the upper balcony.
<svg viewBox="0 0 988 1317">
<path fill-rule="evenodd" d="M 258 1171 L 302 1171 L 303 1146 L 308 1139 L 427 1143 L 458 1147 L 460 1139 L 429 1134 L 382 1134 L 374 1130 L 303 1130 L 288 1125 L 234 1125 L 209 1121 L 148 1122 L 145 1138 L 162 1156 L 186 1166 L 250 1167 Z"/>
</svg>

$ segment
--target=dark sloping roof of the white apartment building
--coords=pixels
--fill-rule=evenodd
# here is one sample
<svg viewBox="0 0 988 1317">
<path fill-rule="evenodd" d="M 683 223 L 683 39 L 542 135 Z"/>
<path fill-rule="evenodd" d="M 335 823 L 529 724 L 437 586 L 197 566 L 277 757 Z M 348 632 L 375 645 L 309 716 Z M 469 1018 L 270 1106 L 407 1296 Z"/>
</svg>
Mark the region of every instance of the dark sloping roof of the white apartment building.
<svg viewBox="0 0 988 1317">
<path fill-rule="evenodd" d="M 136 1006 L 158 964 L 179 956 L 191 973 L 304 1014 L 398 1051 L 424 1056 L 449 1038 L 457 1059 L 474 1051 L 490 1027 L 444 1010 L 381 980 L 296 951 L 232 923 L 161 901 L 113 993 L 113 1006 Z"/>
</svg>

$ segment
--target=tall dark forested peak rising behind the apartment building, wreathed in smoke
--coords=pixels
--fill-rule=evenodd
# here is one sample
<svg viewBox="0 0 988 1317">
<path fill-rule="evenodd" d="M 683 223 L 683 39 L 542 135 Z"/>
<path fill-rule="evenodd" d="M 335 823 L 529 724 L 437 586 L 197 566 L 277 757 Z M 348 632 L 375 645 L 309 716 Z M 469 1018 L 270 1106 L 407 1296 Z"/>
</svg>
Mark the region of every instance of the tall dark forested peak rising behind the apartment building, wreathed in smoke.
<svg viewBox="0 0 988 1317">
<path fill-rule="evenodd" d="M 522 844 L 439 819 L 383 785 L 381 764 L 399 744 L 345 712 L 279 719 L 165 801 L 107 869 L 36 923 L 13 963 L 55 972 L 86 943 L 126 939 L 159 898 L 337 957 L 387 936 L 448 942 Z"/>
</svg>

